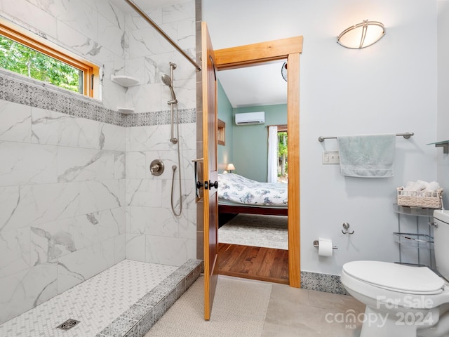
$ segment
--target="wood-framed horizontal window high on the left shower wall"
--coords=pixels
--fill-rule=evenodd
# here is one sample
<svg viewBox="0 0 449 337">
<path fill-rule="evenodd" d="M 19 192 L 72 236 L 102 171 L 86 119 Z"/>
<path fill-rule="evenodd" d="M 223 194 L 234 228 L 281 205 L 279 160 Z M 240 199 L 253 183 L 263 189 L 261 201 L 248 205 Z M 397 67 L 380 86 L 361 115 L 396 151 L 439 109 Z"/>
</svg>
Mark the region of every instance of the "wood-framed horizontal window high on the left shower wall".
<svg viewBox="0 0 449 337">
<path fill-rule="evenodd" d="M 98 79 L 98 66 L 5 22 L 0 22 L 0 67 L 95 97 L 93 81 Z"/>
</svg>

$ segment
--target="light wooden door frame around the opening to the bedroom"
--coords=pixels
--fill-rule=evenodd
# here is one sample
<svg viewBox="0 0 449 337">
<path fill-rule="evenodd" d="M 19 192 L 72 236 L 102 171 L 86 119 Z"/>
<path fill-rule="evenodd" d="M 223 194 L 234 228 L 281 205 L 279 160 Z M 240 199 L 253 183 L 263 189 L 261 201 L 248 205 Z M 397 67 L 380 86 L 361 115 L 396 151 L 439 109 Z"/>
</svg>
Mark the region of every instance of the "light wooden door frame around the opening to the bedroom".
<svg viewBox="0 0 449 337">
<path fill-rule="evenodd" d="M 288 282 L 301 287 L 300 267 L 300 53 L 302 36 L 215 50 L 217 70 L 287 60 Z"/>
</svg>

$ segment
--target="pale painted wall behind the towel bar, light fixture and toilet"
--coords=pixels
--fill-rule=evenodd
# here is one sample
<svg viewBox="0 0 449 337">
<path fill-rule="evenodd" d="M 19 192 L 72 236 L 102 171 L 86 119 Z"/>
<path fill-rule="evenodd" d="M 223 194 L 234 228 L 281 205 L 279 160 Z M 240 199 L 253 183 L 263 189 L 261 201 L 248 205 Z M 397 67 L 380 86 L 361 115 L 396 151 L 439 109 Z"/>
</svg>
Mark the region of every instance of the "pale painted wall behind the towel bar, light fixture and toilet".
<svg viewBox="0 0 449 337">
<path fill-rule="evenodd" d="M 381 41 L 363 50 L 336 43 L 367 18 L 387 27 Z M 203 0 L 203 20 L 216 49 L 304 37 L 301 270 L 340 274 L 349 260 L 397 260 L 396 187 L 436 179 L 435 149 L 426 146 L 436 140 L 436 1 Z M 415 136 L 397 138 L 394 178 L 344 178 L 338 166 L 321 164 L 321 152 L 337 145 L 319 136 L 405 131 Z M 352 236 L 342 234 L 344 222 Z M 319 237 L 338 246 L 332 258 L 317 256 Z"/>
</svg>

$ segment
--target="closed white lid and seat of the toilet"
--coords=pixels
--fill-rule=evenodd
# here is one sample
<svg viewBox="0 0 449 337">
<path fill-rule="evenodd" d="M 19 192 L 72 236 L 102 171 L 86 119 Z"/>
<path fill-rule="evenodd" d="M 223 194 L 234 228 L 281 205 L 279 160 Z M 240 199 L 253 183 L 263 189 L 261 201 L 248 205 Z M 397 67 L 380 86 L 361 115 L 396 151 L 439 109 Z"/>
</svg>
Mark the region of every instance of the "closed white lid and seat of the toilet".
<svg viewBox="0 0 449 337">
<path fill-rule="evenodd" d="M 351 277 L 403 293 L 439 293 L 444 280 L 428 267 L 413 267 L 380 261 L 353 261 L 343 270 Z"/>
</svg>

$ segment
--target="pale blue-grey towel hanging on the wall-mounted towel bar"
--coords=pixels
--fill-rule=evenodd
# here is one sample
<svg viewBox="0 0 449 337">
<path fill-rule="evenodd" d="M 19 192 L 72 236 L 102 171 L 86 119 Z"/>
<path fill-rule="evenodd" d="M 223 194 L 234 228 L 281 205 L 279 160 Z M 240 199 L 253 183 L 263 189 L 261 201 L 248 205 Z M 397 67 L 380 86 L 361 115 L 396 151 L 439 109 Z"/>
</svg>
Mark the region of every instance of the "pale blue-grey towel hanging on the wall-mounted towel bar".
<svg viewBox="0 0 449 337">
<path fill-rule="evenodd" d="M 388 178 L 393 176 L 396 134 L 337 137 L 342 176 Z"/>
</svg>

